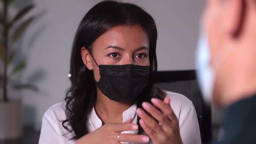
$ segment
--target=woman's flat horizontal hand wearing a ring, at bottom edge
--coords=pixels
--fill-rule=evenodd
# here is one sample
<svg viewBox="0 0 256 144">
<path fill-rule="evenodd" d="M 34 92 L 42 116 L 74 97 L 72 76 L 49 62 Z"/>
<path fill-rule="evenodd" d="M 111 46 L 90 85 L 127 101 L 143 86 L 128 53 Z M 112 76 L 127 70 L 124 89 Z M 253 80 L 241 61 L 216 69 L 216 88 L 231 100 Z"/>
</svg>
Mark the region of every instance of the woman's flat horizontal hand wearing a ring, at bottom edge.
<svg viewBox="0 0 256 144">
<path fill-rule="evenodd" d="M 105 124 L 76 141 L 75 144 L 120 144 L 121 141 L 147 143 L 149 137 L 139 134 L 121 134 L 122 131 L 137 131 L 138 125 L 131 120 L 120 124 Z M 118 136 L 120 136 L 118 138 Z"/>
</svg>

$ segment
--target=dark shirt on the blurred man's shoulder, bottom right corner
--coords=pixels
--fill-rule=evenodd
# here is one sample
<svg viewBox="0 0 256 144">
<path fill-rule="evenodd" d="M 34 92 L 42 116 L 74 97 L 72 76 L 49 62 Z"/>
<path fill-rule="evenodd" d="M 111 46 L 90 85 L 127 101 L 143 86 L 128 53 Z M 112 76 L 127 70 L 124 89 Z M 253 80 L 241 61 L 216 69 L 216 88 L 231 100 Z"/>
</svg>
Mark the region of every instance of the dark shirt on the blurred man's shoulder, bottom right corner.
<svg viewBox="0 0 256 144">
<path fill-rule="evenodd" d="M 256 144 L 256 95 L 225 109 L 224 135 L 216 144 Z"/>
</svg>

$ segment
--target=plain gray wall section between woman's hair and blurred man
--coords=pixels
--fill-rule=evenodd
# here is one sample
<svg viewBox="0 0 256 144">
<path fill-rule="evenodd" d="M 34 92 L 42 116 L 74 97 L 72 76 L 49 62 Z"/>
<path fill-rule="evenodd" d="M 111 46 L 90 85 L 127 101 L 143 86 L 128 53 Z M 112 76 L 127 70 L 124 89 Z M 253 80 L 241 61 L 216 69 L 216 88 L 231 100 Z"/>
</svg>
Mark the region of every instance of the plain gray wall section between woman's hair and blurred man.
<svg viewBox="0 0 256 144">
<path fill-rule="evenodd" d="M 156 21 L 158 69 L 194 69 L 200 16 L 205 0 L 137 1 Z"/>
</svg>

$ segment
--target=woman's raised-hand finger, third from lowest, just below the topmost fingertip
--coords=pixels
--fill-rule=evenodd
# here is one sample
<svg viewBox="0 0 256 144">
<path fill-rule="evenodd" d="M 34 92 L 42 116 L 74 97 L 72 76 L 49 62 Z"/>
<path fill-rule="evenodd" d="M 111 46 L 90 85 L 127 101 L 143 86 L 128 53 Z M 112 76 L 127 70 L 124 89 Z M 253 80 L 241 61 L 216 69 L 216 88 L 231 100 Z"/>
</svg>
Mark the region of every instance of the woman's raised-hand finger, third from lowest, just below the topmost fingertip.
<svg viewBox="0 0 256 144">
<path fill-rule="evenodd" d="M 168 101 L 168 98 L 166 98 Z M 176 117 L 176 115 L 174 114 L 173 109 L 171 108 L 170 104 L 165 104 L 163 101 L 157 99 L 157 98 L 152 98 L 151 102 L 158 107 L 161 111 L 164 112 L 164 114 L 167 116 L 167 118 L 169 118 L 169 120 L 173 123 L 173 124 L 177 124 L 178 123 L 178 119 Z"/>
</svg>

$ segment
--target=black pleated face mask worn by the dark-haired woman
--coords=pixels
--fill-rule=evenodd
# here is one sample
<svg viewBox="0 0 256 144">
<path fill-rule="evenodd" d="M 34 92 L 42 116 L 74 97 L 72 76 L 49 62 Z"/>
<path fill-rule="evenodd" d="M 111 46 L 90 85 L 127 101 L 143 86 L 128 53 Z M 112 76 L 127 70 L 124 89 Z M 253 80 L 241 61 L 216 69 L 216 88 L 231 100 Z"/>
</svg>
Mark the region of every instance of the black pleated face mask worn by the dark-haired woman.
<svg viewBox="0 0 256 144">
<path fill-rule="evenodd" d="M 113 101 L 134 101 L 148 83 L 150 66 L 98 65 L 98 67 L 101 77 L 96 85 Z"/>
</svg>

